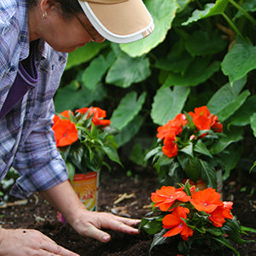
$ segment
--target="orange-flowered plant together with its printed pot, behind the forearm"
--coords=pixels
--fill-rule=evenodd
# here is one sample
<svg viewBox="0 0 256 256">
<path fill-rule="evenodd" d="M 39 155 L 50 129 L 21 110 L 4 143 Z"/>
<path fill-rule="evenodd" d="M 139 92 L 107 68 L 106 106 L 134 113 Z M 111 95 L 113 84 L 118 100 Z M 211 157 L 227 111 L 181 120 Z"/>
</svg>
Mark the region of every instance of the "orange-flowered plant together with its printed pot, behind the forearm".
<svg viewBox="0 0 256 256">
<path fill-rule="evenodd" d="M 52 126 L 73 189 L 93 211 L 97 210 L 99 172 L 102 166 L 108 166 L 105 157 L 122 165 L 113 139 L 116 131 L 105 117 L 106 111 L 101 108 L 80 108 L 74 113 L 65 110 L 55 114 Z"/>
</svg>

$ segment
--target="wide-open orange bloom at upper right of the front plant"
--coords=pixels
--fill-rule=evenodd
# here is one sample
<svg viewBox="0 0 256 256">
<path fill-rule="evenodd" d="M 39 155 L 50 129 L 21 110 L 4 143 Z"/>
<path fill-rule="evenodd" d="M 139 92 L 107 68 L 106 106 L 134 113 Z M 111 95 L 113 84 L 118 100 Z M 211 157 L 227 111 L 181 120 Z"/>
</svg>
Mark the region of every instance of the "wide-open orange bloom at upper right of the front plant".
<svg viewBox="0 0 256 256">
<path fill-rule="evenodd" d="M 221 195 L 215 189 L 208 188 L 202 191 L 195 192 L 192 195 L 191 204 L 199 212 L 213 212 L 217 207 L 223 206 L 223 201 L 220 201 Z"/>
</svg>

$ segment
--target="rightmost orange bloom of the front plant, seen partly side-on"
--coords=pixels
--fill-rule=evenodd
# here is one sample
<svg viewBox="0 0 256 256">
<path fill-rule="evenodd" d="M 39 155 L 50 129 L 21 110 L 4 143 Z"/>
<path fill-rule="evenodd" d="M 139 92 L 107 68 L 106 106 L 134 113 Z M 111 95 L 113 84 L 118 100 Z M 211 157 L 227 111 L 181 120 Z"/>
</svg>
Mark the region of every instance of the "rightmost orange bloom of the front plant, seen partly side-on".
<svg viewBox="0 0 256 256">
<path fill-rule="evenodd" d="M 225 218 L 233 218 L 233 215 L 230 212 L 230 209 L 232 209 L 233 202 L 226 201 L 224 202 L 223 206 L 217 207 L 213 212 L 211 212 L 211 216 L 209 219 L 212 221 L 212 224 L 216 227 L 222 227 Z"/>
</svg>

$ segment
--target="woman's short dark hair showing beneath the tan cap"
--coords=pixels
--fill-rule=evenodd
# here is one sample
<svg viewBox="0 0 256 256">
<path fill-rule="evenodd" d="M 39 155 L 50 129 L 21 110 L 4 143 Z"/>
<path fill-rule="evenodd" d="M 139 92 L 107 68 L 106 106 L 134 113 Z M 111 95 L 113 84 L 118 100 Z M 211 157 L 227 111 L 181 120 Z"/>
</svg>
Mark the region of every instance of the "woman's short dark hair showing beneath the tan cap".
<svg viewBox="0 0 256 256">
<path fill-rule="evenodd" d="M 27 0 L 28 8 L 31 9 L 39 3 L 40 0 Z M 75 13 L 83 12 L 78 0 L 49 0 L 51 4 L 57 4 L 61 9 L 63 19 L 70 19 Z"/>
</svg>

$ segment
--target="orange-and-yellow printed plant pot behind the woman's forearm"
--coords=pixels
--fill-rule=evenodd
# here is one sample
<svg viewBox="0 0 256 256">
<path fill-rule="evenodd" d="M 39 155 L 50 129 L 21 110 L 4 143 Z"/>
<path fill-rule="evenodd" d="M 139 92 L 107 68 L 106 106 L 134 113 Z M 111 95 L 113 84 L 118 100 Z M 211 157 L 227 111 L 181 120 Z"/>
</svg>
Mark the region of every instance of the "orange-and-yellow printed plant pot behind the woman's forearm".
<svg viewBox="0 0 256 256">
<path fill-rule="evenodd" d="M 71 185 L 79 196 L 80 201 L 83 202 L 84 207 L 90 211 L 97 211 L 99 173 L 88 172 L 86 175 L 84 173 L 75 174 Z M 66 222 L 61 212 L 58 212 L 58 219 L 62 223 Z"/>
</svg>

